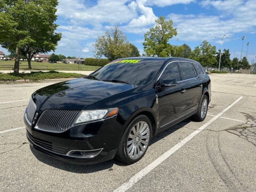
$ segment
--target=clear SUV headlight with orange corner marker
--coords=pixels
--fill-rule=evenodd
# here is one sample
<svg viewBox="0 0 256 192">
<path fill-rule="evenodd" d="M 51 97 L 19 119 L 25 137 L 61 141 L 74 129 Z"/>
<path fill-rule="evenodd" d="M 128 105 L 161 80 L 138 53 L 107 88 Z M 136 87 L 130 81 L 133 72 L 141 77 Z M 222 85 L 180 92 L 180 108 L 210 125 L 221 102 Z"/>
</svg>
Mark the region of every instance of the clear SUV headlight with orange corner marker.
<svg viewBox="0 0 256 192">
<path fill-rule="evenodd" d="M 76 119 L 76 123 L 84 123 L 111 117 L 116 115 L 118 108 L 103 109 L 103 110 L 83 110 L 79 117 Z"/>
</svg>

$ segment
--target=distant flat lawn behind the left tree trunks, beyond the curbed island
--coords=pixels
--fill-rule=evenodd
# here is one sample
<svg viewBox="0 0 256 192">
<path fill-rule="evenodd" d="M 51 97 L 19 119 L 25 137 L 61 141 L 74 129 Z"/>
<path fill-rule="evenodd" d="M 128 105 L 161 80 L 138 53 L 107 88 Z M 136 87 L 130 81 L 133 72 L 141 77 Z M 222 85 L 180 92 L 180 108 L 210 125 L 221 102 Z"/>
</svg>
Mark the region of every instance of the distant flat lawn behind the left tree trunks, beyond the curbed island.
<svg viewBox="0 0 256 192">
<path fill-rule="evenodd" d="M 86 66 L 78 64 L 66 64 L 66 63 L 49 63 L 49 62 L 35 62 L 31 61 L 32 69 L 28 68 L 27 61 L 20 61 L 20 70 L 83 70 L 83 71 L 94 71 L 99 69 L 98 66 Z M 1 61 L 0 70 L 13 70 L 14 61 Z"/>
</svg>

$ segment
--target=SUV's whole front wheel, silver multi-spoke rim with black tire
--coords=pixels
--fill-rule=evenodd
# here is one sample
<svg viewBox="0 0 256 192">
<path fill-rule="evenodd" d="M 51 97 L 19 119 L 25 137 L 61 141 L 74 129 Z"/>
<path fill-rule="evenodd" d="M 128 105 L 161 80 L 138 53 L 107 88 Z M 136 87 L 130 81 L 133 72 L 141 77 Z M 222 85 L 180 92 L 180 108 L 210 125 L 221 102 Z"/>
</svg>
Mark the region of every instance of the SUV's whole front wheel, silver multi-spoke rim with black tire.
<svg viewBox="0 0 256 192">
<path fill-rule="evenodd" d="M 119 161 L 132 164 L 138 162 L 146 153 L 151 138 L 152 126 L 145 115 L 133 119 L 127 126 L 117 150 Z"/>
</svg>

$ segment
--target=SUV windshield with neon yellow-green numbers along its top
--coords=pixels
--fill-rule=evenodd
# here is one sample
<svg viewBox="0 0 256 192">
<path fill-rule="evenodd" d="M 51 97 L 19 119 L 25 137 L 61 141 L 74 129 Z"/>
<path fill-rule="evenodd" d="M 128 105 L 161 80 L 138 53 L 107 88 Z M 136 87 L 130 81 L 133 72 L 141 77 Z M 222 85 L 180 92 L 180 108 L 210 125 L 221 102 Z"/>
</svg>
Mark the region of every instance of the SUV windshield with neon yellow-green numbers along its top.
<svg viewBox="0 0 256 192">
<path fill-rule="evenodd" d="M 146 85 L 163 65 L 163 60 L 120 59 L 108 63 L 88 78 L 99 81 L 125 82 L 132 85 Z"/>
</svg>

